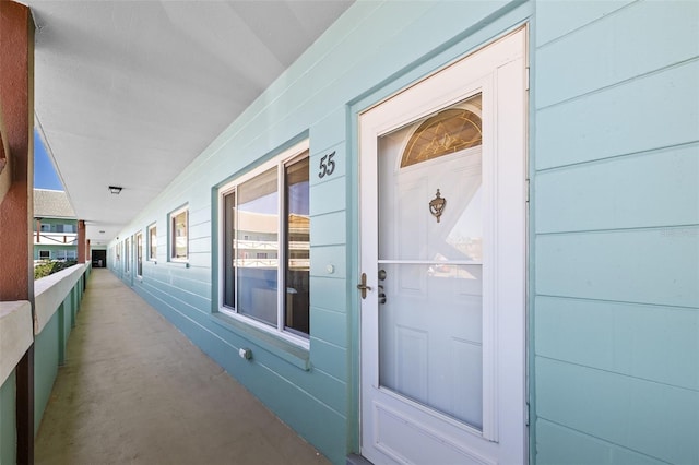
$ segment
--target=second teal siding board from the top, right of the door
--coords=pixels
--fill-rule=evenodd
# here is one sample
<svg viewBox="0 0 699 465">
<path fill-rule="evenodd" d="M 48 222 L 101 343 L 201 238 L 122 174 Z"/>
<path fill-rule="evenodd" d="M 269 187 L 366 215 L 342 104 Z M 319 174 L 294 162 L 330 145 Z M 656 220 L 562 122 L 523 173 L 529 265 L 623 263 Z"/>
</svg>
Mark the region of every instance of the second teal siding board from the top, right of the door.
<svg viewBox="0 0 699 465">
<path fill-rule="evenodd" d="M 638 1 L 623 14 L 609 14 L 537 50 L 536 106 L 547 107 L 698 56 L 699 2 L 668 8 L 665 2 Z"/>
</svg>

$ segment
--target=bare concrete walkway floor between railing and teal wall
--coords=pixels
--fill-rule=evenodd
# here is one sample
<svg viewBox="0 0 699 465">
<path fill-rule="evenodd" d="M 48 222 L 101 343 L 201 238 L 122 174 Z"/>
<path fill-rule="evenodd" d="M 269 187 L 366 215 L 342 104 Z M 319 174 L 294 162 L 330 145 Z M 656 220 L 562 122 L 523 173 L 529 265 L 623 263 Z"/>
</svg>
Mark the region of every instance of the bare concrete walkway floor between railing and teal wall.
<svg viewBox="0 0 699 465">
<path fill-rule="evenodd" d="M 111 272 L 93 270 L 37 464 L 327 464 Z"/>
</svg>

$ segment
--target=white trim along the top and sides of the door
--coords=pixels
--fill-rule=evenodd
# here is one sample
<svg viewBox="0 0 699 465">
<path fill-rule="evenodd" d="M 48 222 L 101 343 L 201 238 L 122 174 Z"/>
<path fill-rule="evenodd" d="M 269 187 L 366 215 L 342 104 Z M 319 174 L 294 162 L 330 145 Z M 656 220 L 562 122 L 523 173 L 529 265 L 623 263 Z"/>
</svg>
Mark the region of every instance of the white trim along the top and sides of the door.
<svg viewBox="0 0 699 465">
<path fill-rule="evenodd" d="M 505 43 L 508 43 L 508 40 L 510 40 L 511 38 L 513 38 L 513 40 L 517 40 L 517 46 L 514 47 L 514 51 L 512 52 L 512 55 L 507 55 L 509 53 L 508 51 L 506 52 L 503 58 L 503 56 L 497 55 L 497 53 L 482 53 L 482 51 L 493 51 L 494 48 L 502 46 Z M 497 56 L 497 59 L 495 61 L 493 60 L 494 56 Z M 513 61 L 517 61 L 518 65 L 508 68 L 507 64 Z M 520 65 L 520 63 L 523 63 L 523 65 Z M 513 305 L 514 308 L 521 310 L 521 312 L 514 315 L 516 317 L 514 320 L 517 320 L 516 323 L 512 323 L 512 321 L 509 321 L 508 319 L 502 319 L 502 318 L 498 319 L 496 314 L 493 313 L 493 321 L 490 321 L 489 323 L 486 322 L 484 324 L 484 334 L 483 334 L 484 347 L 486 343 L 490 344 L 494 348 L 491 354 L 494 354 L 494 357 L 497 358 L 497 360 L 487 360 L 485 358 L 486 351 L 484 350 L 484 366 L 487 365 L 488 367 L 495 367 L 495 368 L 493 369 L 494 370 L 493 375 L 489 378 L 491 380 L 490 384 L 486 382 L 486 377 L 484 372 L 484 401 L 483 401 L 484 402 L 484 419 L 483 419 L 484 428 L 483 428 L 482 436 L 483 438 L 491 442 L 502 441 L 502 440 L 517 442 L 519 444 L 518 449 L 521 451 L 521 455 L 519 455 L 518 457 L 510 457 L 510 458 L 517 458 L 519 462 L 525 462 L 528 457 L 528 452 L 526 452 L 528 429 L 525 425 L 525 409 L 526 409 L 526 344 L 525 344 L 526 338 L 525 338 L 525 335 L 526 335 L 526 279 L 528 279 L 525 186 L 526 186 L 526 178 L 528 178 L 528 163 L 526 163 L 528 140 L 526 140 L 526 87 L 525 87 L 525 74 L 524 74 L 525 67 L 526 67 L 526 26 L 520 27 L 518 31 L 508 34 L 502 38 L 494 40 L 493 43 L 482 47 L 477 51 L 467 55 L 465 58 L 462 58 L 459 61 L 449 64 L 442 70 L 439 70 L 433 73 L 430 76 L 423 79 L 415 84 L 406 86 L 404 90 L 398 92 L 396 94 L 394 94 L 393 96 L 387 99 L 383 99 L 379 104 L 372 105 L 366 110 L 360 111 L 358 114 L 359 123 L 358 123 L 358 131 L 357 131 L 358 145 L 359 145 L 359 150 L 358 150 L 359 163 L 358 164 L 359 166 L 362 166 L 363 132 L 365 132 L 365 135 L 366 135 L 366 131 L 365 131 L 366 126 L 364 126 L 364 122 L 366 120 L 363 120 L 363 118 L 366 117 L 367 114 L 369 114 L 372 109 L 383 104 L 387 104 L 388 102 L 400 100 L 401 98 L 408 98 L 406 97 L 406 95 L 408 94 L 407 91 L 416 86 L 425 86 L 427 90 L 424 90 L 423 92 L 428 92 L 428 93 L 431 92 L 436 96 L 435 100 L 437 100 L 438 104 L 435 104 L 434 102 L 431 102 L 431 103 L 425 104 L 423 107 L 416 107 L 414 111 L 411 111 L 410 114 L 406 112 L 402 120 L 401 119 L 391 120 L 390 123 L 377 123 L 375 126 L 371 126 L 371 129 L 369 132 L 372 135 L 375 134 L 380 135 L 389 132 L 394 128 L 401 127 L 410 121 L 420 118 L 422 116 L 429 115 L 430 112 L 435 111 L 435 108 L 443 108 L 453 103 L 457 103 L 463 98 L 464 88 L 466 90 L 466 92 L 469 92 L 470 84 L 465 83 L 464 85 L 453 91 L 443 91 L 440 87 L 439 80 L 438 79 L 434 80 L 433 78 L 446 71 L 454 70 L 454 69 L 458 69 L 459 67 L 464 67 L 464 65 L 467 65 L 469 68 L 473 68 L 473 69 L 476 69 L 476 68 L 488 69 L 488 70 L 497 69 L 498 73 L 495 73 L 493 76 L 490 76 L 491 79 L 490 78 L 474 79 L 472 82 L 473 88 L 474 90 L 481 88 L 484 92 L 487 92 L 487 87 L 489 87 L 490 85 L 495 85 L 498 88 L 498 93 L 500 93 L 500 95 L 498 95 L 498 99 L 499 99 L 498 102 L 514 100 L 518 103 L 518 105 L 520 105 L 520 109 L 521 109 L 521 112 L 517 115 L 512 115 L 512 112 L 508 112 L 508 111 L 497 111 L 496 114 L 497 121 L 491 121 L 490 127 L 500 128 L 502 124 L 506 124 L 508 127 L 513 124 L 513 127 L 517 128 L 517 133 L 510 134 L 512 136 L 509 136 L 507 139 L 505 138 L 497 139 L 494 142 L 493 151 L 494 152 L 497 151 L 498 154 L 513 151 L 517 154 L 521 154 L 522 163 L 517 167 L 505 169 L 503 172 L 498 172 L 497 179 L 495 179 L 495 171 L 486 172 L 484 169 L 484 172 L 483 172 L 484 179 L 487 176 L 495 183 L 494 184 L 495 199 L 491 200 L 493 212 L 494 212 L 493 227 L 494 227 L 495 241 L 498 243 L 500 242 L 497 238 L 498 238 L 498 235 L 501 235 L 503 231 L 507 231 L 507 230 L 520 231 L 520 234 L 517 235 L 518 240 L 516 241 L 517 243 L 514 245 L 513 248 L 510 248 L 507 250 L 497 250 L 493 252 L 493 254 L 495 255 L 496 262 L 493 269 L 489 271 L 493 274 L 491 279 L 489 279 L 489 282 L 495 283 L 495 286 L 497 286 L 498 282 L 516 282 L 517 284 L 514 286 L 516 291 L 509 297 L 505 296 L 505 298 L 502 297 L 498 298 L 498 296 L 496 296 L 495 293 L 491 293 L 493 299 L 494 299 L 493 305 L 497 306 L 498 308 L 505 307 L 508 305 Z M 513 76 L 512 73 L 519 73 L 520 75 Z M 503 79 L 520 79 L 522 82 L 522 87 L 508 88 L 507 86 L 498 86 L 497 84 Z M 490 112 L 490 115 L 493 115 L 493 112 Z M 484 156 L 485 156 L 485 153 L 484 153 Z M 494 163 L 497 164 L 497 157 L 495 158 Z M 494 170 L 497 167 L 494 167 Z M 360 175 L 358 177 L 360 179 L 359 186 L 364 186 L 365 183 L 376 186 L 378 181 L 376 170 L 372 174 L 369 174 L 368 175 L 369 177 L 366 177 L 366 174 L 364 172 L 360 172 L 359 175 Z M 511 188 L 512 186 L 514 188 Z M 512 189 L 512 191 L 514 192 L 514 193 L 511 193 L 511 192 L 507 193 L 508 199 L 512 198 L 508 202 L 517 203 L 520 205 L 519 207 L 516 208 L 516 211 L 512 211 L 511 203 L 509 204 L 506 204 L 507 202 L 498 203 L 498 199 L 500 199 L 500 194 L 502 195 L 505 194 L 503 191 L 506 187 L 508 187 L 508 189 Z M 362 189 L 359 188 L 359 191 L 360 190 Z M 365 206 L 362 205 L 362 199 L 359 199 L 359 212 L 364 212 Z M 359 226 L 359 248 L 357 252 L 359 255 L 359 273 L 362 273 L 362 272 L 366 272 L 367 270 L 371 270 L 371 269 L 367 269 L 367 264 L 364 264 L 364 265 L 362 264 L 363 262 L 362 260 L 363 243 L 362 242 L 366 238 L 366 235 L 364 233 L 363 222 L 362 222 L 362 215 L 359 215 L 359 225 L 360 225 Z M 364 247 L 366 246 L 367 245 L 365 243 Z M 507 263 L 505 262 L 499 263 L 498 260 L 503 260 L 502 257 L 505 255 L 508 257 Z M 516 257 L 516 259 L 512 259 L 512 257 Z M 513 262 L 513 263 L 510 263 L 510 262 Z M 369 273 L 370 281 L 367 284 L 368 286 L 376 288 L 378 286 L 378 283 L 376 282 L 376 276 L 374 276 L 374 274 L 375 273 Z M 488 291 L 487 288 L 484 288 L 484 300 L 486 298 L 485 297 L 486 294 L 490 294 L 490 293 Z M 357 299 L 357 301 L 359 302 L 359 307 L 360 307 L 362 300 Z M 362 310 L 359 309 L 359 311 Z M 362 318 L 363 315 L 359 314 L 360 383 L 358 386 L 358 397 L 359 397 L 359 407 L 360 407 L 360 413 L 359 413 L 360 430 L 363 429 L 364 421 L 365 421 L 364 412 L 365 412 L 365 402 L 367 402 L 365 398 L 363 398 L 363 392 L 365 390 L 367 380 L 365 379 L 366 367 L 364 366 L 364 361 L 362 357 L 362 348 L 364 347 L 365 338 L 378 337 L 378 334 L 376 334 L 375 332 L 367 333 L 365 325 L 362 324 Z M 519 360 L 517 363 L 512 363 L 517 366 L 507 366 L 507 365 L 502 366 L 500 365 L 500 358 L 499 358 L 500 355 L 498 354 L 498 350 L 497 350 L 498 341 L 496 338 L 496 335 L 497 333 L 499 333 L 501 327 L 507 329 L 507 327 L 510 327 L 512 324 L 517 324 L 521 331 L 517 331 L 517 334 L 518 334 L 517 341 L 508 341 L 508 343 L 514 344 L 518 347 L 520 347 L 521 360 Z M 375 369 L 378 369 L 378 368 L 375 367 Z M 513 375 L 509 375 L 509 377 L 507 375 L 507 373 L 512 373 L 512 372 L 514 373 Z M 511 383 L 511 382 L 514 382 L 516 384 L 519 384 L 521 386 L 518 390 L 519 397 L 517 400 L 517 405 L 511 405 L 511 403 L 503 403 L 503 402 L 496 404 L 496 398 L 500 394 L 500 388 L 503 384 Z M 487 393 L 490 393 L 490 395 L 488 395 Z M 517 416 L 518 418 L 517 422 L 519 424 L 519 426 L 517 428 L 508 428 L 507 425 L 498 425 L 498 421 L 501 416 L 501 412 L 498 410 L 498 407 L 502 410 L 508 410 L 511 413 L 517 412 L 517 414 L 513 414 L 513 415 Z M 486 414 L 489 414 L 489 417 L 490 417 L 489 420 L 486 420 Z M 517 429 L 518 431 L 512 431 L 513 429 Z M 476 431 L 475 430 L 471 431 L 471 433 L 474 433 L 474 432 Z M 481 432 L 477 431 L 477 434 L 481 434 Z M 360 432 L 360 438 L 359 438 L 360 441 L 362 441 L 362 436 L 363 433 Z M 362 445 L 362 449 L 364 450 L 364 445 Z M 483 457 L 479 457 L 479 461 L 482 461 L 483 463 L 488 463 L 490 460 L 483 456 Z"/>
</svg>

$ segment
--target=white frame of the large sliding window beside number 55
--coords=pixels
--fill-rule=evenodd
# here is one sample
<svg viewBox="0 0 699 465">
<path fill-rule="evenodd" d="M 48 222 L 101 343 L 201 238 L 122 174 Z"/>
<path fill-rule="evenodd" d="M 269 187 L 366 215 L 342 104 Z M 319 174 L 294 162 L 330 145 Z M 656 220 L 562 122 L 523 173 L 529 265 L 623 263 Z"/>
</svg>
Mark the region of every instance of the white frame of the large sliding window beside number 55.
<svg viewBox="0 0 699 465">
<path fill-rule="evenodd" d="M 280 293 L 279 289 L 285 288 L 286 283 L 286 270 L 287 270 L 287 248 L 288 248 L 288 235 L 286 231 L 286 222 L 285 217 L 285 199 L 286 199 L 286 190 L 287 186 L 284 180 L 285 169 L 287 166 L 291 166 L 297 162 L 303 160 L 304 158 L 309 159 L 309 181 L 310 181 L 310 142 L 309 140 L 304 140 L 295 144 L 294 146 L 281 152 L 273 158 L 260 164 L 253 169 L 236 176 L 232 180 L 223 183 L 217 191 L 217 215 L 218 215 L 218 231 L 217 231 L 217 260 L 218 260 L 218 288 L 217 288 L 217 309 L 218 313 L 225 314 L 227 317 L 234 318 L 235 320 L 253 326 L 254 329 L 262 330 L 265 333 L 275 335 L 281 337 L 296 346 L 303 347 L 305 349 L 310 348 L 310 330 L 309 333 L 305 336 L 300 335 L 298 332 L 289 331 L 285 327 L 286 320 L 286 293 Z M 279 205 L 279 218 L 277 218 L 277 266 L 276 266 L 276 279 L 277 279 L 277 293 L 276 293 L 276 326 L 271 324 L 265 324 L 262 321 L 258 321 L 251 317 L 246 315 L 245 313 L 239 313 L 237 308 L 230 308 L 224 305 L 224 295 L 226 293 L 226 283 L 225 283 L 225 237 L 226 237 L 226 211 L 225 211 L 225 200 L 226 196 L 235 193 L 236 203 L 238 191 L 237 188 L 245 182 L 262 175 L 263 172 L 276 168 L 276 189 L 279 193 L 277 205 Z M 235 229 L 235 226 L 234 226 Z M 235 249 L 234 249 L 234 258 L 235 258 Z M 234 259 L 235 260 L 235 259 Z M 310 270 L 309 270 L 310 271 Z M 234 295 L 237 299 L 238 296 L 238 284 L 237 277 L 234 276 Z M 310 306 L 309 306 L 309 320 L 310 320 Z"/>
</svg>

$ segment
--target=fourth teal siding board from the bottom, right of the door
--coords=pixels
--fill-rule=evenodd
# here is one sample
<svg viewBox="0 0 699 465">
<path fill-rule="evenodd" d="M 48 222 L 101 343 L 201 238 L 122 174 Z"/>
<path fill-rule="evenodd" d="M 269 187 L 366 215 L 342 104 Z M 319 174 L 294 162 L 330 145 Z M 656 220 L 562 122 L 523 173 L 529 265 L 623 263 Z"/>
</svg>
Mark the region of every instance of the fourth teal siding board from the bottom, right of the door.
<svg viewBox="0 0 699 465">
<path fill-rule="evenodd" d="M 699 226 L 536 238 L 538 295 L 699 307 Z"/>
</svg>

